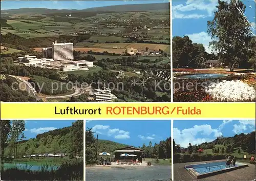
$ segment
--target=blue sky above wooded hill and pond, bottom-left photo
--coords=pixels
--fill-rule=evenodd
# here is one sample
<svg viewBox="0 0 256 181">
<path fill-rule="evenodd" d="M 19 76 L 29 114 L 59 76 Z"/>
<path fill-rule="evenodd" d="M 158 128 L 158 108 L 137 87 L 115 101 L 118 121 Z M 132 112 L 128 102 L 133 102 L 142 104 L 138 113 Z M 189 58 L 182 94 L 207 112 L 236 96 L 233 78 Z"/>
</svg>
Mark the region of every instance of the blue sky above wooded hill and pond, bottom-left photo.
<svg viewBox="0 0 256 181">
<path fill-rule="evenodd" d="M 26 140 L 30 138 L 35 138 L 37 134 L 48 132 L 54 129 L 59 129 L 63 127 L 71 126 L 75 121 L 56 121 L 56 120 L 29 120 L 25 122 L 25 137 Z"/>
</svg>

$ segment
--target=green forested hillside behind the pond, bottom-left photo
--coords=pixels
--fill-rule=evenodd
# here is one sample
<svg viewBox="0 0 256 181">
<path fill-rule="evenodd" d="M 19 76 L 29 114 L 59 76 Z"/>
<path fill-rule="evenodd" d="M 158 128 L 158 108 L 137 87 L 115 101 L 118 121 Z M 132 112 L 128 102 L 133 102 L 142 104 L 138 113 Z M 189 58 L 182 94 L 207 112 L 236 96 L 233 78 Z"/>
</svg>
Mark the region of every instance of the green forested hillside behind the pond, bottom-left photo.
<svg viewBox="0 0 256 181">
<path fill-rule="evenodd" d="M 76 121 L 72 126 L 37 134 L 36 138 L 18 142 L 18 155 L 35 153 L 67 153 L 82 155 L 83 122 Z M 5 155 L 12 155 L 12 144 L 5 149 Z"/>
</svg>

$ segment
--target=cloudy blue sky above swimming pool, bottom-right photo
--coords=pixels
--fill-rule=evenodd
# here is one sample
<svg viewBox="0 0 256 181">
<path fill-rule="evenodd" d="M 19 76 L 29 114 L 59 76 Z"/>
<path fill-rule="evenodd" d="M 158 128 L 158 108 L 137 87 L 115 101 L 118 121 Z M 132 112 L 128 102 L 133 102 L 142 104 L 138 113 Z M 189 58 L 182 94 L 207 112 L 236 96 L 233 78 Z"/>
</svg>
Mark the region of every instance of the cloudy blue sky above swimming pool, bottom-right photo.
<svg viewBox="0 0 256 181">
<path fill-rule="evenodd" d="M 217 137 L 255 131 L 255 120 L 174 120 L 174 141 L 181 147 L 214 141 Z"/>
</svg>

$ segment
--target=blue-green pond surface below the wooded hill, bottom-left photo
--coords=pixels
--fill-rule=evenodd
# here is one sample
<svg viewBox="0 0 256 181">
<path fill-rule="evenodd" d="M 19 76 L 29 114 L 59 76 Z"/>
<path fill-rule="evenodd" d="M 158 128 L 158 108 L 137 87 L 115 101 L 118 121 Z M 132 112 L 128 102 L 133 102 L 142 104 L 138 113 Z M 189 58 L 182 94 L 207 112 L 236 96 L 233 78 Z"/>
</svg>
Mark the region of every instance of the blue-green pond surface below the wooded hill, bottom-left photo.
<svg viewBox="0 0 256 181">
<path fill-rule="evenodd" d="M 19 170 L 31 170 L 31 171 L 38 171 L 41 169 L 44 170 L 57 170 L 59 167 L 57 166 L 46 166 L 43 165 L 31 165 L 31 164 L 24 164 L 24 163 L 4 163 L 4 169 L 10 168 L 18 168 Z"/>
</svg>

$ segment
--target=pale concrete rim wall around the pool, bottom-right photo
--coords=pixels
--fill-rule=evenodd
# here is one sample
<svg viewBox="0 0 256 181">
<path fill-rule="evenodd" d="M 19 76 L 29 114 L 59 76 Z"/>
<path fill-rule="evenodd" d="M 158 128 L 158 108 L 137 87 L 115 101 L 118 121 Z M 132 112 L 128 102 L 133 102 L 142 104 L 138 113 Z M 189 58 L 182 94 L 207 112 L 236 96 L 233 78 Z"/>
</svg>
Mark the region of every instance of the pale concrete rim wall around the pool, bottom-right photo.
<svg viewBox="0 0 256 181">
<path fill-rule="evenodd" d="M 216 163 L 216 162 L 225 162 L 226 160 L 219 160 L 219 161 L 213 161 L 213 162 L 205 162 L 205 163 Z M 203 165 L 205 163 L 201 163 L 201 164 L 193 164 L 193 165 L 185 165 L 185 169 L 187 169 L 191 174 L 193 174 L 195 177 L 197 178 L 205 178 L 205 177 L 208 177 L 208 176 L 212 176 L 212 175 L 217 175 L 217 174 L 220 174 L 220 173 L 225 173 L 225 172 L 229 172 L 229 171 L 232 171 L 232 170 L 237 170 L 237 169 L 240 169 L 240 168 L 244 168 L 244 167 L 248 167 L 249 165 L 248 164 L 243 164 L 241 162 L 237 162 L 239 163 L 239 166 L 237 167 L 230 167 L 230 168 L 224 168 L 222 170 L 218 170 L 218 171 L 213 171 L 213 172 L 208 172 L 208 173 L 204 173 L 204 174 L 199 174 L 194 168 L 193 166 L 196 166 L 196 165 Z"/>
</svg>

